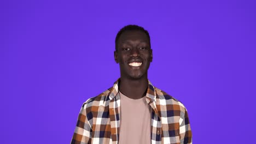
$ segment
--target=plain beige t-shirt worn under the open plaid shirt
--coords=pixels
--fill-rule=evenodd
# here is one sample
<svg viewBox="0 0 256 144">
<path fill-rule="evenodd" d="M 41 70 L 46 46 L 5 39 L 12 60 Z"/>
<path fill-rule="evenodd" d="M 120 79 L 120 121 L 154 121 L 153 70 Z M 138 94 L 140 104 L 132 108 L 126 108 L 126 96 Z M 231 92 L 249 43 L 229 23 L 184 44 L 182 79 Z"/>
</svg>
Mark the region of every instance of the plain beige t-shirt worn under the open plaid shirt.
<svg viewBox="0 0 256 144">
<path fill-rule="evenodd" d="M 151 111 L 146 97 L 131 99 L 119 92 L 121 99 L 120 144 L 151 143 Z"/>
</svg>

